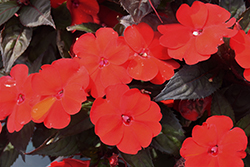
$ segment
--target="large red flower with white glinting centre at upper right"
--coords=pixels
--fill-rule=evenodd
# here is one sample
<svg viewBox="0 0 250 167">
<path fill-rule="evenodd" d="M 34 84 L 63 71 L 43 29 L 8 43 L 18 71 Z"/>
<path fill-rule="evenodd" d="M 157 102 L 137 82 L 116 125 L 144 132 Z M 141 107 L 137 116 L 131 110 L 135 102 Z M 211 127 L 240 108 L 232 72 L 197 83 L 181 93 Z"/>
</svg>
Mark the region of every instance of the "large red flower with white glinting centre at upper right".
<svg viewBox="0 0 250 167">
<path fill-rule="evenodd" d="M 180 24 L 158 26 L 163 34 L 160 43 L 168 48 L 170 57 L 193 65 L 207 60 L 223 44 L 223 37 L 232 37 L 237 30 L 228 29 L 235 23 L 230 13 L 214 4 L 194 1 L 189 7 L 182 4 L 176 13 Z M 226 22 L 226 23 L 225 23 Z"/>
</svg>

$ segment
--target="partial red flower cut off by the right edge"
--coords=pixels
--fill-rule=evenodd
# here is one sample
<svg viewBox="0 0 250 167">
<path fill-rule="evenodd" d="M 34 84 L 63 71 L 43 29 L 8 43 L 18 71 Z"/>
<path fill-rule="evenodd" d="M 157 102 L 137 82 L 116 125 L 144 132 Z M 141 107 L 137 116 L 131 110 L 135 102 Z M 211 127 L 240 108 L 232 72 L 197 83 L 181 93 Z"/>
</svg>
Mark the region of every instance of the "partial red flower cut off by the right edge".
<svg viewBox="0 0 250 167">
<path fill-rule="evenodd" d="M 235 52 L 235 60 L 245 68 L 244 77 L 250 81 L 250 31 L 245 34 L 245 31 L 239 30 L 238 33 L 230 39 L 230 47 Z"/>
</svg>

